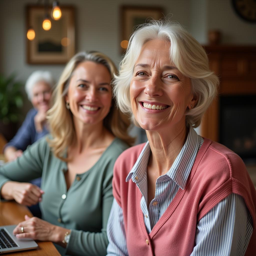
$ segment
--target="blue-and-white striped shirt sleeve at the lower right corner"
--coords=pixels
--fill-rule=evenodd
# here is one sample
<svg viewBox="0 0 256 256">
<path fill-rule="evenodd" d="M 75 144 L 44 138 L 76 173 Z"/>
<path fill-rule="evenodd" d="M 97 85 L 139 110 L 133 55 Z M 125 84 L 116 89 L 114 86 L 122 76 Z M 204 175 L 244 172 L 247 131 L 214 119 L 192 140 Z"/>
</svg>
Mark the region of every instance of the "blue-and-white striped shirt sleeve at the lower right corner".
<svg viewBox="0 0 256 256">
<path fill-rule="evenodd" d="M 252 231 L 252 218 L 243 198 L 231 194 L 199 221 L 191 256 L 242 256 Z"/>
</svg>

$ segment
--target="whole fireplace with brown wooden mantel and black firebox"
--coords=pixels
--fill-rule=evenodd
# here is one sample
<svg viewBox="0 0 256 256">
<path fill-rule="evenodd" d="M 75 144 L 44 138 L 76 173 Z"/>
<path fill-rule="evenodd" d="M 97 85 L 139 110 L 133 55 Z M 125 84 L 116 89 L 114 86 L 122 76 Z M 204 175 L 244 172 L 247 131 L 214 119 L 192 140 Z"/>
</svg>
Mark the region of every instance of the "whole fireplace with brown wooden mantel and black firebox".
<svg viewBox="0 0 256 256">
<path fill-rule="evenodd" d="M 256 46 L 205 46 L 220 79 L 218 97 L 205 113 L 201 135 L 243 159 L 256 187 Z"/>
</svg>

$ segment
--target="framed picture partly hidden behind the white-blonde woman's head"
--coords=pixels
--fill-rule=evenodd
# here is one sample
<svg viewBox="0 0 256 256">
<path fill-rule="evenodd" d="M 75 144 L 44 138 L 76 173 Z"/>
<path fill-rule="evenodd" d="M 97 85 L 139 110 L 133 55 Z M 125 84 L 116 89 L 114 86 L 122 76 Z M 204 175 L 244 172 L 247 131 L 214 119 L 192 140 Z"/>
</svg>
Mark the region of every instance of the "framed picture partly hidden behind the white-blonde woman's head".
<svg viewBox="0 0 256 256">
<path fill-rule="evenodd" d="M 159 6 L 121 6 L 121 52 L 126 50 L 128 40 L 138 25 L 159 20 L 162 17 L 164 17 L 163 8 Z"/>
</svg>

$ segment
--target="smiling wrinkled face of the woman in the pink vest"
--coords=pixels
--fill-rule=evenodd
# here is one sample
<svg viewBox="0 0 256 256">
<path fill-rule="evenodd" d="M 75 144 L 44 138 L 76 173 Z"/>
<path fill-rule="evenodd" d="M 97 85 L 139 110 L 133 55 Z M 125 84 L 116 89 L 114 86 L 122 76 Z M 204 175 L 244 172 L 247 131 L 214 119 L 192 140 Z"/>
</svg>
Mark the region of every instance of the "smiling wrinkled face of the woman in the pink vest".
<svg viewBox="0 0 256 256">
<path fill-rule="evenodd" d="M 190 79 L 169 58 L 170 43 L 151 40 L 136 60 L 130 84 L 132 112 L 145 130 L 185 126 L 185 111 L 195 105 Z"/>
</svg>

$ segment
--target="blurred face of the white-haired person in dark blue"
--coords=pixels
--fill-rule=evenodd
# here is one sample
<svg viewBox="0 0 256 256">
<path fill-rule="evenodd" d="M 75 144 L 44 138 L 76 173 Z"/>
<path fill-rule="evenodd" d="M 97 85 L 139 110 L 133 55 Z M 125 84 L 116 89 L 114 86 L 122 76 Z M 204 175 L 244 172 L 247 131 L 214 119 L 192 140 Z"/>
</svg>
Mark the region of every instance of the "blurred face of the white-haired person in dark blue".
<svg viewBox="0 0 256 256">
<path fill-rule="evenodd" d="M 32 89 L 31 103 L 39 111 L 47 111 L 50 108 L 51 87 L 44 81 L 37 82 Z"/>
</svg>

